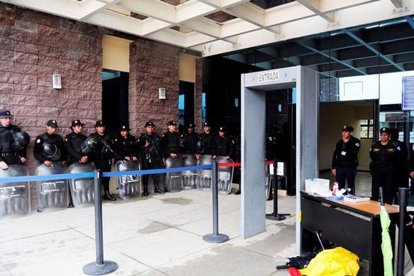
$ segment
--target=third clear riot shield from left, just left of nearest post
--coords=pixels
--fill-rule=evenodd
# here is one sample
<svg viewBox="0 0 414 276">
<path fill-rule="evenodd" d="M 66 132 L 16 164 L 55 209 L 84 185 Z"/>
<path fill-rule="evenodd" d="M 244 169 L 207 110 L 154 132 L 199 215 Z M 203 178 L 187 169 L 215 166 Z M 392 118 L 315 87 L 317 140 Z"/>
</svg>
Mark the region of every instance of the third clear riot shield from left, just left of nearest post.
<svg viewBox="0 0 414 276">
<path fill-rule="evenodd" d="M 68 173 L 92 172 L 95 166 L 92 163 L 76 162 L 69 166 Z M 93 178 L 74 178 L 70 179 L 70 195 L 75 207 L 89 207 L 94 204 Z"/>
</svg>

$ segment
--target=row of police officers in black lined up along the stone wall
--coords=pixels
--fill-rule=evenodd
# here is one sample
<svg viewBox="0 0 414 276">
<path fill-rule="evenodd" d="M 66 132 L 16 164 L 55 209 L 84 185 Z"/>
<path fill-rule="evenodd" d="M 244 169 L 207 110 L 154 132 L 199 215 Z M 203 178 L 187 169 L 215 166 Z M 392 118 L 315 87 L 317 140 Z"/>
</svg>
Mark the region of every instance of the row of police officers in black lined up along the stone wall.
<svg viewBox="0 0 414 276">
<path fill-rule="evenodd" d="M 0 168 L 7 169 L 11 164 L 26 162 L 26 146 L 30 137 L 26 132 L 11 124 L 12 115 L 9 110 L 0 110 Z M 227 137 L 226 128 L 219 128 L 219 135 L 211 132 L 210 124 L 204 123 L 204 132 L 198 135 L 194 132 L 195 124 L 188 125 L 188 131 L 179 136 L 176 132 L 175 121 L 168 121 L 168 131 L 161 137 L 154 132 L 155 124 L 152 121 L 144 125 L 145 132 L 139 139 L 130 135 L 130 129 L 122 126 L 115 139 L 106 133 L 105 124 L 99 120 L 95 124 L 95 132 L 89 137 L 83 135 L 84 124 L 75 119 L 70 124 L 70 132 L 63 139 L 57 134 L 57 121 L 51 119 L 46 122 L 46 132 L 36 137 L 33 154 L 39 164 L 52 166 L 52 162 L 61 162 L 63 165 L 72 165 L 76 162 L 92 161 L 97 169 L 110 171 L 111 165 L 118 160 L 141 160 L 142 169 L 150 170 L 162 168 L 168 157 L 175 159 L 181 155 L 194 155 L 197 159 L 201 155 L 225 156 L 230 159 L 236 157 L 235 142 Z M 239 147 L 238 147 L 239 148 Z M 148 195 L 148 179 L 152 177 L 155 193 L 165 193 L 165 187 L 159 186 L 159 175 L 143 175 L 144 196 Z M 109 178 L 102 179 L 104 199 L 116 200 L 110 195 Z"/>
</svg>

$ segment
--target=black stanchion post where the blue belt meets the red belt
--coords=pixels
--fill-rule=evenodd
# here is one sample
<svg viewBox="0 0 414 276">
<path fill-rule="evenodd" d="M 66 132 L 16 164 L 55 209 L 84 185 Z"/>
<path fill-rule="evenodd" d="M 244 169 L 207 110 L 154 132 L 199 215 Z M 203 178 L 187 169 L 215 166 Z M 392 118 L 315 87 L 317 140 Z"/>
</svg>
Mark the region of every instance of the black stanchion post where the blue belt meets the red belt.
<svg viewBox="0 0 414 276">
<path fill-rule="evenodd" d="M 213 161 L 211 186 L 213 191 L 213 234 L 203 236 L 205 242 L 221 244 L 228 241 L 228 235 L 219 234 L 219 190 L 217 188 L 217 163 Z"/>
</svg>

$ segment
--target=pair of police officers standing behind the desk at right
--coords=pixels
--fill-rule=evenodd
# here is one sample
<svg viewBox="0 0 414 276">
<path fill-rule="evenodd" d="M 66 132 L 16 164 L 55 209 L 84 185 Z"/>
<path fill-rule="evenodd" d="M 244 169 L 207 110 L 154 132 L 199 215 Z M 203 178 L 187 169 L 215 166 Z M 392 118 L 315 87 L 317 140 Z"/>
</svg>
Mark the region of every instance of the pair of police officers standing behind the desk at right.
<svg viewBox="0 0 414 276">
<path fill-rule="evenodd" d="M 353 137 L 353 127 L 342 127 L 342 139 L 335 144 L 332 173 L 339 188 L 348 188 L 355 194 L 355 175 L 361 142 Z M 384 188 L 384 202 L 392 204 L 399 187 L 408 187 L 408 177 L 414 179 L 414 156 L 408 159 L 406 145 L 398 140 L 398 130 L 380 129 L 380 140 L 370 148 L 370 173 L 372 175 L 371 198 L 379 199 L 379 188 Z"/>
</svg>

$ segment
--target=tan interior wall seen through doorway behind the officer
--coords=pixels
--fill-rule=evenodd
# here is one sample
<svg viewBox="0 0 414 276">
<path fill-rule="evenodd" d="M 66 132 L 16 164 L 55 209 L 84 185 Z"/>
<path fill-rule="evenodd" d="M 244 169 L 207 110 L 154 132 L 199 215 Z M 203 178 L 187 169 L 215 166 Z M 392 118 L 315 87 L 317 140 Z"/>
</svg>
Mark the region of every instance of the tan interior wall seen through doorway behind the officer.
<svg viewBox="0 0 414 276">
<path fill-rule="evenodd" d="M 353 126 L 353 136 L 360 138 L 359 120 L 373 119 L 373 103 L 323 103 L 319 106 L 319 169 L 331 169 L 333 149 L 341 139 L 342 126 Z M 373 139 L 360 139 L 358 170 L 368 170 L 369 148 Z"/>
</svg>

